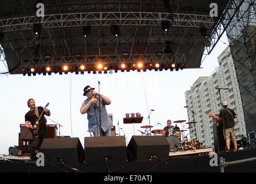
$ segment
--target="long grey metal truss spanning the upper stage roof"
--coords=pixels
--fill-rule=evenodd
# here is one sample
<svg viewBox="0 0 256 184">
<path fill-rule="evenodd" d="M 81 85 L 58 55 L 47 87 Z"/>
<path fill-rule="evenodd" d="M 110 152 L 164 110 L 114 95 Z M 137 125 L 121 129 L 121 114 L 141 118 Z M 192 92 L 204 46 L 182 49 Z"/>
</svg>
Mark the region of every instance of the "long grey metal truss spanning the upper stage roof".
<svg viewBox="0 0 256 184">
<path fill-rule="evenodd" d="M 0 20 L 2 32 L 32 29 L 33 24 L 40 23 L 42 28 L 65 28 L 73 26 L 161 26 L 161 21 L 170 21 L 171 26 L 210 28 L 213 17 L 196 14 L 154 13 L 154 12 L 94 12 L 50 14 L 44 17 L 16 17 Z"/>
</svg>

